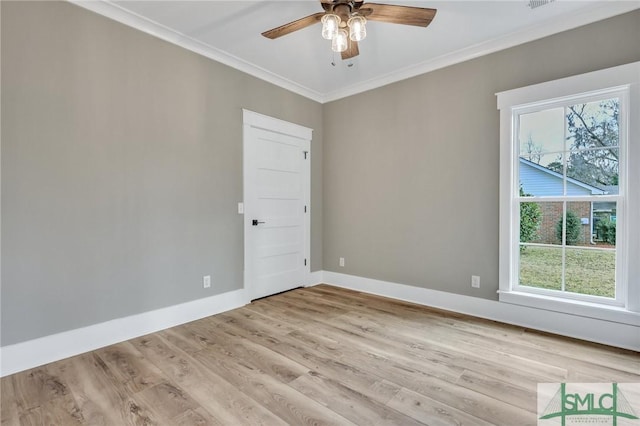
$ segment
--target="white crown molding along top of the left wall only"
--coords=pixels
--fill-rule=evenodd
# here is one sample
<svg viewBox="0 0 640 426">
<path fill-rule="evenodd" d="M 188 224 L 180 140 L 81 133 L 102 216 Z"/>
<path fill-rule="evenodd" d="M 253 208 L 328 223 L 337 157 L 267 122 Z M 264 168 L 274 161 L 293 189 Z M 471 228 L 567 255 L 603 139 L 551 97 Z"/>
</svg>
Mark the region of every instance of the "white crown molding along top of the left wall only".
<svg viewBox="0 0 640 426">
<path fill-rule="evenodd" d="M 110 0 L 67 0 L 69 3 L 80 6 L 91 12 L 97 13 L 126 26 L 135 28 L 139 31 L 157 37 L 161 40 L 180 46 L 190 50 L 198 55 L 213 59 L 216 62 L 230 66 L 253 77 L 264 80 L 268 83 L 275 84 L 283 89 L 289 90 L 305 98 L 309 98 L 316 102 L 322 102 L 322 94 L 302 86 L 294 81 L 283 78 L 271 71 L 247 62 L 241 58 L 230 55 L 220 49 L 203 43 L 199 40 L 182 34 L 167 26 L 159 24 L 144 16 L 138 15 L 119 5 L 112 3 Z"/>
</svg>

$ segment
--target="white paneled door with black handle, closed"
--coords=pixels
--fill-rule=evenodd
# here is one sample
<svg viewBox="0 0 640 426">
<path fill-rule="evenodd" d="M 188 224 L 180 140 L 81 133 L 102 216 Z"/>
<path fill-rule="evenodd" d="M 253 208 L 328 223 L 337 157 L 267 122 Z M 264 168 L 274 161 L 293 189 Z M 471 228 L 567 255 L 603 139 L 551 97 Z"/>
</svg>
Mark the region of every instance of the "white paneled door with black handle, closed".
<svg viewBox="0 0 640 426">
<path fill-rule="evenodd" d="M 300 287 L 309 265 L 311 129 L 244 110 L 245 289 Z"/>
</svg>

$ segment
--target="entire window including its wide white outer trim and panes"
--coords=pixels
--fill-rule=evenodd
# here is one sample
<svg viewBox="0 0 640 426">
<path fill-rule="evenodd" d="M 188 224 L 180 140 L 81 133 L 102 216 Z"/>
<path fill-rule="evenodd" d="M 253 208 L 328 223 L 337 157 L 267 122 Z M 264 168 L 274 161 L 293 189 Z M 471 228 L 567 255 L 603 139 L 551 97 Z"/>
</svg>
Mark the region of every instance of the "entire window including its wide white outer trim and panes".
<svg viewBox="0 0 640 426">
<path fill-rule="evenodd" d="M 634 63 L 498 94 L 501 301 L 640 311 L 639 76 Z"/>
</svg>

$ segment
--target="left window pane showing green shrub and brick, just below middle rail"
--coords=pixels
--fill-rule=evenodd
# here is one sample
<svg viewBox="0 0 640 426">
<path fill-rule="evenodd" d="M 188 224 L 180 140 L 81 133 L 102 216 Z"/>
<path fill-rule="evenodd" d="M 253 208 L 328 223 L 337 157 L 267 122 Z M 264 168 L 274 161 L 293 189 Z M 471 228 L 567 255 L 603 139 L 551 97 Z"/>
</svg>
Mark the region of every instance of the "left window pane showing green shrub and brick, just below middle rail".
<svg viewBox="0 0 640 426">
<path fill-rule="evenodd" d="M 520 203 L 520 242 L 560 244 L 558 222 L 562 219 L 562 203 Z"/>
</svg>

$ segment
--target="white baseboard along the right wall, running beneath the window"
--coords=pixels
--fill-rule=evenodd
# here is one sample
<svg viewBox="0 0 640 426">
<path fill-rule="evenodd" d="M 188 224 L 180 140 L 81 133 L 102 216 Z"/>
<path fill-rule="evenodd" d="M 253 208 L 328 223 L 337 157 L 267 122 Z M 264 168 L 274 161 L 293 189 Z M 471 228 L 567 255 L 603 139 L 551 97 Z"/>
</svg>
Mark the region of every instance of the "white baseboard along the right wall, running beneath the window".
<svg viewBox="0 0 640 426">
<path fill-rule="evenodd" d="M 640 327 L 444 291 L 323 271 L 326 284 L 640 351 Z"/>
</svg>

